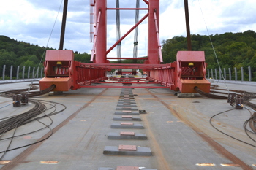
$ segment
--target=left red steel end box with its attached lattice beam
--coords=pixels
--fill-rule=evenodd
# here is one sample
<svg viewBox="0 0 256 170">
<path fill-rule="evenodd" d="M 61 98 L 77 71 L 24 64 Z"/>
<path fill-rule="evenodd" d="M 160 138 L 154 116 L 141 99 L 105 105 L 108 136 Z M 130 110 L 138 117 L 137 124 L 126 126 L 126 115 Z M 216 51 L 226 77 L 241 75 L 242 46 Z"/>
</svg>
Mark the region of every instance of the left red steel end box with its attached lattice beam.
<svg viewBox="0 0 256 170">
<path fill-rule="evenodd" d="M 57 62 L 61 62 L 61 65 Z M 56 85 L 53 91 L 76 90 L 81 88 L 81 85 L 89 85 L 106 78 L 107 69 L 74 61 L 72 50 L 47 50 L 44 65 L 45 77 L 39 81 L 40 90 L 45 90 L 51 85 Z"/>
</svg>

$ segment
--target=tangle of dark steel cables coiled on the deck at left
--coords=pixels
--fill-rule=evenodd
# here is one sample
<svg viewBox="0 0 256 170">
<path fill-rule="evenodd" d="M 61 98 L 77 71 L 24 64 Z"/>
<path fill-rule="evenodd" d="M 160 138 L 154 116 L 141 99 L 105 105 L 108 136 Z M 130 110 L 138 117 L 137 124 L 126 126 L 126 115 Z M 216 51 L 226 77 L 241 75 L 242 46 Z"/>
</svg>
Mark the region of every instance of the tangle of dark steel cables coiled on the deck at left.
<svg viewBox="0 0 256 170">
<path fill-rule="evenodd" d="M 42 90 L 42 91 L 39 91 L 39 92 L 29 92 L 29 90 L 31 90 L 31 89 L 37 89 L 37 88 L 34 87 L 34 85 L 32 85 L 32 87 L 29 88 L 29 89 L 7 90 L 7 91 L 4 91 L 4 92 L 1 92 L 0 95 L 3 96 L 3 97 L 12 98 L 12 96 L 15 96 L 15 95 L 18 95 L 20 93 L 23 93 L 23 92 L 27 91 L 27 95 L 29 97 L 34 97 L 34 96 L 39 96 L 39 95 L 49 93 L 51 90 L 53 90 L 53 88 L 55 88 L 55 85 L 52 85 L 49 88 L 47 88 L 45 90 Z M 19 115 L 4 117 L 4 118 L 0 119 L 0 138 L 1 138 L 1 136 L 3 136 L 3 134 L 6 134 L 8 131 L 11 131 L 11 130 L 14 129 L 14 132 L 13 132 L 11 137 L 0 139 L 0 141 L 10 139 L 10 143 L 8 144 L 7 149 L 4 150 L 4 151 L 0 151 L 0 153 L 3 153 L 3 155 L 1 155 L 0 160 L 4 157 L 6 152 L 8 152 L 10 150 L 16 150 L 16 149 L 20 149 L 22 147 L 27 147 L 27 146 L 31 145 L 31 144 L 26 144 L 26 145 L 23 145 L 23 146 L 20 146 L 20 147 L 15 147 L 15 148 L 10 149 L 10 144 L 12 143 L 12 141 L 15 137 L 24 136 L 24 135 L 27 135 L 27 134 L 32 134 L 32 133 L 35 133 L 37 131 L 41 131 L 44 128 L 49 128 L 50 131 L 52 131 L 51 128 L 50 128 L 50 125 L 52 125 L 53 120 L 50 118 L 50 116 L 56 115 L 59 112 L 62 112 L 62 111 L 64 111 L 64 109 L 66 109 L 66 106 L 64 106 L 64 104 L 59 104 L 59 103 L 56 103 L 54 101 L 29 99 L 29 102 L 34 104 L 34 107 L 31 108 L 29 111 L 23 112 Z M 57 104 L 61 105 L 61 107 L 63 107 L 63 109 L 59 109 L 57 111 L 57 109 L 56 109 Z M 49 107 L 47 107 L 46 105 L 49 105 Z M 46 114 L 45 113 L 46 111 L 50 111 L 50 112 L 48 114 Z M 42 114 L 44 114 L 44 115 L 42 115 Z M 51 122 L 48 125 L 46 125 L 45 123 L 40 121 L 40 119 L 42 119 L 44 117 L 48 117 L 50 119 Z M 27 123 L 34 122 L 35 120 L 37 120 L 37 122 L 45 125 L 45 127 L 39 128 L 36 131 L 31 131 L 29 133 L 19 134 L 19 135 L 15 136 L 15 131 L 17 130 L 17 128 L 19 128 L 22 125 L 26 125 Z M 50 135 L 47 136 L 45 139 L 48 139 L 52 134 L 53 133 L 51 132 Z M 32 144 L 42 142 L 45 139 L 34 142 Z"/>
</svg>

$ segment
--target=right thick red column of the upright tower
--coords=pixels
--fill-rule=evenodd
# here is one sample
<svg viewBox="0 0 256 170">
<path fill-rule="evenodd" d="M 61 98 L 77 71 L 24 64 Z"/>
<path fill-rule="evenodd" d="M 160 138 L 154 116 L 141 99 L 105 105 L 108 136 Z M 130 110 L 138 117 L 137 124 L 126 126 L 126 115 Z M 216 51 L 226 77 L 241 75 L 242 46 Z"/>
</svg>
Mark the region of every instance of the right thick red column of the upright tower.
<svg viewBox="0 0 256 170">
<path fill-rule="evenodd" d="M 159 0 L 149 0 L 148 4 L 148 62 L 150 64 L 160 63 L 154 12 L 157 15 L 157 29 L 159 29 Z"/>
</svg>

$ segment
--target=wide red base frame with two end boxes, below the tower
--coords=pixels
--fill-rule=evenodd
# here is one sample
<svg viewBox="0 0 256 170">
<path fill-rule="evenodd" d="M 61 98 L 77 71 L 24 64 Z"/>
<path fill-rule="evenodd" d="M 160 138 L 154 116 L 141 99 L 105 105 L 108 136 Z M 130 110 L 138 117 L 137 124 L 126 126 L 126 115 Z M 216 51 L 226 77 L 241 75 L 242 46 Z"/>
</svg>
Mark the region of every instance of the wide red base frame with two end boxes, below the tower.
<svg viewBox="0 0 256 170">
<path fill-rule="evenodd" d="M 61 66 L 57 63 L 61 62 Z M 193 63 L 193 66 L 189 66 Z M 170 88 L 181 93 L 196 93 L 197 86 L 209 93 L 210 82 L 206 80 L 206 62 L 203 51 L 178 51 L 177 61 L 169 64 L 120 64 L 120 63 L 80 63 L 74 61 L 71 50 L 48 50 L 45 58 L 45 78 L 39 81 L 40 90 L 56 85 L 54 91 L 75 90 L 91 82 L 107 80 L 105 73 L 110 68 L 142 68 L 147 70 L 147 80 L 164 87 L 132 86 L 132 88 Z M 116 79 L 120 82 L 140 81 L 143 79 Z M 116 80 L 109 80 L 116 82 Z M 145 81 L 145 80 L 144 80 Z M 86 86 L 94 88 L 114 88 L 113 85 Z M 116 86 L 119 88 L 121 86 Z M 131 88 L 131 87 L 129 87 Z"/>
</svg>

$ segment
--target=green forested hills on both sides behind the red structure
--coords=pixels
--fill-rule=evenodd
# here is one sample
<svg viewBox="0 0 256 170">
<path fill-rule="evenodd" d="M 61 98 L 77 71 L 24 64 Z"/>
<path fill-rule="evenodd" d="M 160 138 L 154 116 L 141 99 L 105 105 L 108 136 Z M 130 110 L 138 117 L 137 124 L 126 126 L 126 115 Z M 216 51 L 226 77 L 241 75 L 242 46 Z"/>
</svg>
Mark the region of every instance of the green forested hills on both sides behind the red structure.
<svg viewBox="0 0 256 170">
<path fill-rule="evenodd" d="M 206 53 L 208 69 L 219 68 L 214 55 L 209 36 L 192 35 L 192 50 L 202 50 Z M 251 66 L 253 77 L 256 79 L 256 33 L 255 31 L 245 31 L 243 33 L 225 33 L 211 35 L 211 40 L 219 64 L 222 68 L 236 67 L 246 69 Z M 187 50 L 187 39 L 184 36 L 175 36 L 162 42 L 162 55 L 165 63 L 176 61 L 178 50 Z M 52 49 L 52 48 L 47 48 Z M 54 49 L 52 49 L 54 50 Z M 6 72 L 12 65 L 37 67 L 41 61 L 45 47 L 31 45 L 27 42 L 18 42 L 7 36 L 0 36 L 0 73 L 2 66 L 6 65 Z M 75 60 L 88 63 L 90 55 L 87 53 L 75 52 Z M 44 61 L 44 58 L 42 58 Z M 122 61 L 127 63 L 128 61 Z M 132 61 L 130 61 L 132 62 Z M 140 63 L 141 61 L 138 61 Z M 42 63 L 41 63 L 42 66 Z M 15 70 L 14 70 L 15 72 Z"/>
</svg>

